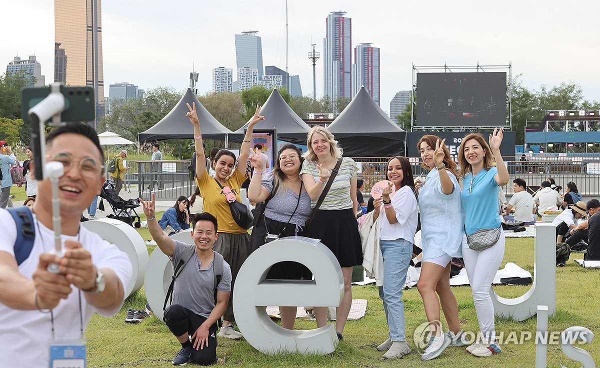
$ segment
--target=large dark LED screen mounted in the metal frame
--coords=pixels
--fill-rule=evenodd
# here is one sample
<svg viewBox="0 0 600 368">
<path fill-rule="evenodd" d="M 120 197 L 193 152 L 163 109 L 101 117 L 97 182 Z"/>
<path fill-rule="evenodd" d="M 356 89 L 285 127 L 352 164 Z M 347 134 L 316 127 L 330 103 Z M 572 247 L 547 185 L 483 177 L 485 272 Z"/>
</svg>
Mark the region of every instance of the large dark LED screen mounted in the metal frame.
<svg viewBox="0 0 600 368">
<path fill-rule="evenodd" d="M 421 127 L 505 126 L 506 73 L 417 73 Z"/>
</svg>

